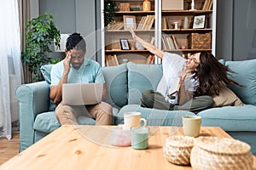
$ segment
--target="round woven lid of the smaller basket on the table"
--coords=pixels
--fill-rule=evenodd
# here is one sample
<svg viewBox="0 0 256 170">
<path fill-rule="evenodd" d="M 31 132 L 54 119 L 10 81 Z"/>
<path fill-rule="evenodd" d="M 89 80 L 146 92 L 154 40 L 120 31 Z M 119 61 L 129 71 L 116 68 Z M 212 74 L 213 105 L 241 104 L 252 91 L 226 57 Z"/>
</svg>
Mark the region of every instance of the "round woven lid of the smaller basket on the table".
<svg viewBox="0 0 256 170">
<path fill-rule="evenodd" d="M 189 136 L 170 136 L 166 139 L 166 145 L 172 147 L 193 147 L 194 138 Z"/>
</svg>

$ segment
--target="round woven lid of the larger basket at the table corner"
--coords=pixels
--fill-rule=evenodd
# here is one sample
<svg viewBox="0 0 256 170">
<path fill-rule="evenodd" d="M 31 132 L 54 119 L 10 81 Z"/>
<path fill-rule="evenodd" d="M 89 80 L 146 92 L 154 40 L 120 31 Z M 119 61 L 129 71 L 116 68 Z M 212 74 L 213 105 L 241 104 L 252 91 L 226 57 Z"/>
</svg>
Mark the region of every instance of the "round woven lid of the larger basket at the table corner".
<svg viewBox="0 0 256 170">
<path fill-rule="evenodd" d="M 251 150 L 249 144 L 240 140 L 218 137 L 199 137 L 195 139 L 195 146 L 218 154 L 245 154 Z"/>
</svg>

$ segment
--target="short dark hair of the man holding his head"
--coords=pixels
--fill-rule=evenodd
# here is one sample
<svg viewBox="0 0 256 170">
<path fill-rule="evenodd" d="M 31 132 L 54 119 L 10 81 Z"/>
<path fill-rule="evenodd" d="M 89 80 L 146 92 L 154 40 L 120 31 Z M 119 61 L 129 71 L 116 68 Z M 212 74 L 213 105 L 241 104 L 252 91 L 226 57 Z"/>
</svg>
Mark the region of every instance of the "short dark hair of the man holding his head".
<svg viewBox="0 0 256 170">
<path fill-rule="evenodd" d="M 86 43 L 84 38 L 77 32 L 74 32 L 69 37 L 67 37 L 66 49 L 70 51 L 71 49 L 82 49 L 86 50 Z"/>
</svg>

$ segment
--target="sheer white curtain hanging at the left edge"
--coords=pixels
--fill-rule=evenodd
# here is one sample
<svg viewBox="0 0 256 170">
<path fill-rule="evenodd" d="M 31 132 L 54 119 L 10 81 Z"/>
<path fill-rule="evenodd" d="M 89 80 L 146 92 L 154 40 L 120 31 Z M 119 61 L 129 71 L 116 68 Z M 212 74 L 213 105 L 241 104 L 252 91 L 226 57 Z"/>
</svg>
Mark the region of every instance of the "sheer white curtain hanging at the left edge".
<svg viewBox="0 0 256 170">
<path fill-rule="evenodd" d="M 12 122 L 19 121 L 15 89 L 21 84 L 18 0 L 0 0 L 0 137 L 12 138 Z"/>
</svg>

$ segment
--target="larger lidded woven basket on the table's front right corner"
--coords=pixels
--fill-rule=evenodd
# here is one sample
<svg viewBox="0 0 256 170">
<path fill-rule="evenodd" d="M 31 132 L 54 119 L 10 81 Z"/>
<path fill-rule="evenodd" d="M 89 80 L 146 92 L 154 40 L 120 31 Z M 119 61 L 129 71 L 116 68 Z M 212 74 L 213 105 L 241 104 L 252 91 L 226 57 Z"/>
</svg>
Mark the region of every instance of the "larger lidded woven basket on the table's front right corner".
<svg viewBox="0 0 256 170">
<path fill-rule="evenodd" d="M 190 163 L 193 169 L 251 170 L 251 147 L 236 139 L 200 137 L 195 139 Z"/>
</svg>

